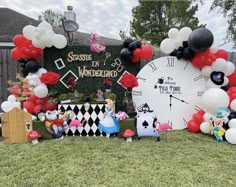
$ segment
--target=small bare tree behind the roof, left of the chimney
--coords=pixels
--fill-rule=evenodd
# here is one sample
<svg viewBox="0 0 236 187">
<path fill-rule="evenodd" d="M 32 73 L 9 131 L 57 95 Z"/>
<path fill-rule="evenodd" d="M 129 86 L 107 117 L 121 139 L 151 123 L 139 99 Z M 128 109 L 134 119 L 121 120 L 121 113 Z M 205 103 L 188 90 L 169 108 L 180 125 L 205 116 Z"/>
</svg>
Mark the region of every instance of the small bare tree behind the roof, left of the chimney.
<svg viewBox="0 0 236 187">
<path fill-rule="evenodd" d="M 38 20 L 41 21 L 47 21 L 52 26 L 62 26 L 61 19 L 63 18 L 63 14 L 60 12 L 54 12 L 51 9 L 47 9 L 44 12 L 42 12 L 42 15 L 39 15 Z"/>
</svg>

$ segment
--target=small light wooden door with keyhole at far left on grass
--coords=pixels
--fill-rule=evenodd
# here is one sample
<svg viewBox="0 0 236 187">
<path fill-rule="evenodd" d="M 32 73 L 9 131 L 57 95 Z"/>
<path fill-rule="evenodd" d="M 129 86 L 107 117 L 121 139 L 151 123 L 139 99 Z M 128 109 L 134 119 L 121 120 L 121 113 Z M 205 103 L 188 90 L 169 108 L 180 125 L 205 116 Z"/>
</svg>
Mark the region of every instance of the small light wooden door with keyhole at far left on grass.
<svg viewBox="0 0 236 187">
<path fill-rule="evenodd" d="M 2 115 L 3 142 L 27 142 L 32 131 L 32 115 L 19 108 Z"/>
</svg>

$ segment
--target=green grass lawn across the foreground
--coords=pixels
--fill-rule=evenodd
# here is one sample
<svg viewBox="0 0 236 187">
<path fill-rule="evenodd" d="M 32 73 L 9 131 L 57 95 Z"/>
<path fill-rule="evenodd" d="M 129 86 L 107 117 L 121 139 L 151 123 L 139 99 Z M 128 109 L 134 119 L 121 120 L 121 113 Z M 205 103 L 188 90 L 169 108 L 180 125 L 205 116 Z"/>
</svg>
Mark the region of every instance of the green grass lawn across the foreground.
<svg viewBox="0 0 236 187">
<path fill-rule="evenodd" d="M 235 145 L 187 130 L 166 137 L 0 143 L 0 186 L 235 186 Z"/>
</svg>

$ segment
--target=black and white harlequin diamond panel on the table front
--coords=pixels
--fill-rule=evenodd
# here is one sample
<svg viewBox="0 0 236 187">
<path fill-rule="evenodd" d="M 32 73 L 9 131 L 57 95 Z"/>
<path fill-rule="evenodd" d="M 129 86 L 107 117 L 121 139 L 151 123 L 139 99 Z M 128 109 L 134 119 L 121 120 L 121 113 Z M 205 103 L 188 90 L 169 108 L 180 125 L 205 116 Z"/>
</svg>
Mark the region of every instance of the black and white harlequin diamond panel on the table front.
<svg viewBox="0 0 236 187">
<path fill-rule="evenodd" d="M 86 119 L 88 122 L 83 127 L 72 127 L 66 129 L 65 134 L 68 136 L 104 136 L 97 126 L 100 120 L 104 118 L 105 105 L 104 104 L 91 104 L 88 110 L 85 110 L 83 104 L 63 104 L 58 105 L 58 110 L 62 112 L 73 110 L 75 113 L 74 119 L 82 122 Z"/>
</svg>

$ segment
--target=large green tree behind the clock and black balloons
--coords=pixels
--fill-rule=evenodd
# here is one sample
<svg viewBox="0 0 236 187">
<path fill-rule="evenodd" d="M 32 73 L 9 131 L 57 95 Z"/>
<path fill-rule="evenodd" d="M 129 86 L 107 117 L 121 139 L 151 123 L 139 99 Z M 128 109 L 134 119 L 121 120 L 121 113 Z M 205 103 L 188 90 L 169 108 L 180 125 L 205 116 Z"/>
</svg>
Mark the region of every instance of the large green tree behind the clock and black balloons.
<svg viewBox="0 0 236 187">
<path fill-rule="evenodd" d="M 190 0 L 139 0 L 139 5 L 132 10 L 131 35 L 160 45 L 171 28 L 190 27 L 194 30 L 200 27 L 198 18 L 194 16 L 197 10 L 198 5 L 191 5 Z"/>
</svg>

